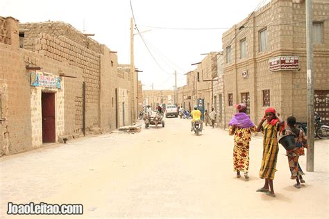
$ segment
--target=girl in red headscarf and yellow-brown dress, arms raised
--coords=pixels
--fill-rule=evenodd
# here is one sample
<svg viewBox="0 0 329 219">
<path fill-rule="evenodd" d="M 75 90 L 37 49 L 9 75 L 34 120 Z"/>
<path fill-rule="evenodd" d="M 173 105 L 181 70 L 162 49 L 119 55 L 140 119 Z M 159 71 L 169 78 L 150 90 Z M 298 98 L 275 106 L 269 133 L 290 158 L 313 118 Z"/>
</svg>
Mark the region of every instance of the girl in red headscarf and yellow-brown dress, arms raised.
<svg viewBox="0 0 329 219">
<path fill-rule="evenodd" d="M 264 121 L 267 121 L 267 123 L 263 124 Z M 276 114 L 276 109 L 268 108 L 256 130 L 263 134 L 263 156 L 262 166 L 260 167 L 260 178 L 265 179 L 264 186 L 257 191 L 266 193 L 272 197 L 276 196 L 273 189 L 273 179 L 277 171 L 276 161 L 279 151 L 277 135 L 283 128 L 284 122 L 279 114 Z"/>
</svg>

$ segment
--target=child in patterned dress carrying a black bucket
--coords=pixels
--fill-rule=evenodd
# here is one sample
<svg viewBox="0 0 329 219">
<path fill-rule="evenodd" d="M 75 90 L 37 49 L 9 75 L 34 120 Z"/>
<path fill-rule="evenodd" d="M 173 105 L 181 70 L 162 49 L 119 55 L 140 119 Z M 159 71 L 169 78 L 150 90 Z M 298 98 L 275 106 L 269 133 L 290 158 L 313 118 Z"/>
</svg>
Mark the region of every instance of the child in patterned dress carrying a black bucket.
<svg viewBox="0 0 329 219">
<path fill-rule="evenodd" d="M 298 158 L 299 156 L 305 155 L 304 148 L 308 148 L 308 146 L 306 135 L 303 129 L 296 128 L 295 125 L 296 118 L 294 116 L 289 116 L 287 118 L 287 128 L 283 130 L 283 134 L 294 134 L 296 140 L 296 148 L 287 150 L 287 157 L 290 172 L 292 173 L 290 179 L 296 179 L 296 184 L 294 184 L 294 187 L 301 189 L 301 183 L 305 183 L 305 180 L 302 177 L 302 175 L 305 175 L 305 173 L 303 173 L 303 170 L 298 163 Z"/>
</svg>

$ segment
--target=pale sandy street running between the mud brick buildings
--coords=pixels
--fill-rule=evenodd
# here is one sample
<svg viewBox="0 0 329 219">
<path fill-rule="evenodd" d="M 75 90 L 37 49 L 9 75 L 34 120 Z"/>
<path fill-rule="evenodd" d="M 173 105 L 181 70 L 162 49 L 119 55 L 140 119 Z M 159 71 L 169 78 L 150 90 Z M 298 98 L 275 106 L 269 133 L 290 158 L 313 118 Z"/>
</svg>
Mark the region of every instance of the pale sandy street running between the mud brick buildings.
<svg viewBox="0 0 329 219">
<path fill-rule="evenodd" d="M 79 203 L 83 216 L 60 218 L 328 218 L 328 140 L 317 140 L 315 171 L 293 187 L 280 146 L 276 198 L 256 193 L 262 139 L 251 141 L 250 179 L 235 177 L 233 137 L 165 119 L 137 134 L 103 134 L 0 159 L 0 218 L 7 202 Z M 24 217 L 25 218 L 25 217 Z M 44 218 L 29 216 L 28 218 Z M 58 216 L 49 216 L 58 218 Z"/>
</svg>

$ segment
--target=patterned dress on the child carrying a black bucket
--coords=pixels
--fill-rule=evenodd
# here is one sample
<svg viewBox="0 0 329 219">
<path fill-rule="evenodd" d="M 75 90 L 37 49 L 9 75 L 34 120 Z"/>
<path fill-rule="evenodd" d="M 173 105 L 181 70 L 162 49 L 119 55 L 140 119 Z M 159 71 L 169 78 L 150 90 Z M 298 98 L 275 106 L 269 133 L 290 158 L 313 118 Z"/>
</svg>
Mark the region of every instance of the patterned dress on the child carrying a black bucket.
<svg viewBox="0 0 329 219">
<path fill-rule="evenodd" d="M 298 136 L 296 136 L 296 134 L 289 127 L 287 127 L 285 134 L 294 134 L 296 139 L 296 148 L 287 150 L 289 168 L 290 172 L 292 173 L 290 179 L 296 179 L 301 175 L 305 175 L 301 169 L 301 166 L 299 165 L 298 158 L 299 156 L 305 155 L 304 148 L 307 148 L 307 139 L 303 130 L 300 130 Z"/>
</svg>

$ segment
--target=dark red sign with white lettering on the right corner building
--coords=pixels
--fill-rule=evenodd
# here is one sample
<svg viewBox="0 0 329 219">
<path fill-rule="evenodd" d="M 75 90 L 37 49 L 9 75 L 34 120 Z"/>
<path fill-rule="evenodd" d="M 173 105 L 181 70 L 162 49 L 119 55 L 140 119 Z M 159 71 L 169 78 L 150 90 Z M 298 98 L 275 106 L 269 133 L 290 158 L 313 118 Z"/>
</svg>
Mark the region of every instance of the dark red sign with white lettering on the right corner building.
<svg viewBox="0 0 329 219">
<path fill-rule="evenodd" d="M 298 70 L 299 56 L 281 55 L 269 60 L 269 71 Z"/>
</svg>

